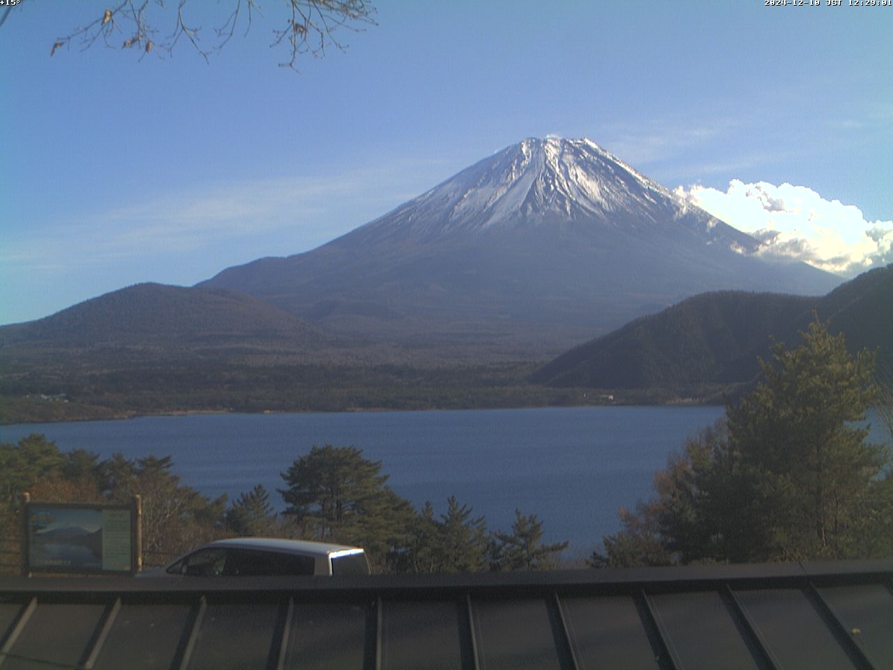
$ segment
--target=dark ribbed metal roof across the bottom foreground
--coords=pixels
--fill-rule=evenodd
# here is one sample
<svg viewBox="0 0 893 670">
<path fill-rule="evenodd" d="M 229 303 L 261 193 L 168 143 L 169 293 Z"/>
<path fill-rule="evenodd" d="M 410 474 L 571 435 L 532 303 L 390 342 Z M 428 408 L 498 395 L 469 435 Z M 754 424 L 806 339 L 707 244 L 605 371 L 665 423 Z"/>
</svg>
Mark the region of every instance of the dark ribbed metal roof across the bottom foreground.
<svg viewBox="0 0 893 670">
<path fill-rule="evenodd" d="M 0 579 L 0 670 L 893 668 L 893 561 Z"/>
</svg>

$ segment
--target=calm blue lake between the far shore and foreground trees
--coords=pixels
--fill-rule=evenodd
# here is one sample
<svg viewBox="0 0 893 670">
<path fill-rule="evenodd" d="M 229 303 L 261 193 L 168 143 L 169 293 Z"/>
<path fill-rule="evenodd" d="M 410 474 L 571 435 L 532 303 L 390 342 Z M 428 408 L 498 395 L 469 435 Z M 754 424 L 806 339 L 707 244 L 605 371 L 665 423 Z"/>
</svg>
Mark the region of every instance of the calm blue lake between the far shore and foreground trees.
<svg viewBox="0 0 893 670">
<path fill-rule="evenodd" d="M 599 406 L 345 414 L 185 415 L 122 421 L 0 426 L 0 441 L 31 432 L 63 451 L 100 457 L 172 456 L 183 483 L 230 498 L 257 483 L 276 493 L 280 473 L 315 445 L 352 445 L 380 460 L 396 493 L 416 508 L 447 497 L 508 530 L 514 509 L 544 522 L 545 540 L 570 540 L 587 557 L 620 528 L 617 511 L 650 496 L 655 470 L 721 406 Z"/>
</svg>

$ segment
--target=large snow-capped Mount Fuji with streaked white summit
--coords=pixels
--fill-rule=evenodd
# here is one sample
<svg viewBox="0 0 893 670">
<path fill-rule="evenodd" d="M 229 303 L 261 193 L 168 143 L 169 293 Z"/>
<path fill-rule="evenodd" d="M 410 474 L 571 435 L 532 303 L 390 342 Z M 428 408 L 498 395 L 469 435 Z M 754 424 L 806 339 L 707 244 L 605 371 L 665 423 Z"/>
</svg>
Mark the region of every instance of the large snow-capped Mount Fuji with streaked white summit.
<svg viewBox="0 0 893 670">
<path fill-rule="evenodd" d="M 842 281 L 759 249 L 588 139 L 529 138 L 328 244 L 201 285 L 351 336 L 544 356 L 704 291 Z"/>
</svg>

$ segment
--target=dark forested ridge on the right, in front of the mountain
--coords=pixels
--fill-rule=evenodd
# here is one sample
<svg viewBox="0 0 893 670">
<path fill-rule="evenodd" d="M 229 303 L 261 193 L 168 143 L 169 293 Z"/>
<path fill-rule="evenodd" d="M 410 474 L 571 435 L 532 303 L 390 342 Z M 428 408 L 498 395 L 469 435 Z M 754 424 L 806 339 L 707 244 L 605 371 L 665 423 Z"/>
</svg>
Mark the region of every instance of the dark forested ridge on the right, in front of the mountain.
<svg viewBox="0 0 893 670">
<path fill-rule="evenodd" d="M 795 346 L 817 313 L 851 350 L 877 348 L 893 365 L 893 265 L 827 296 L 722 291 L 690 297 L 558 356 L 533 381 L 599 389 L 678 388 L 752 380 L 772 339 Z"/>
</svg>

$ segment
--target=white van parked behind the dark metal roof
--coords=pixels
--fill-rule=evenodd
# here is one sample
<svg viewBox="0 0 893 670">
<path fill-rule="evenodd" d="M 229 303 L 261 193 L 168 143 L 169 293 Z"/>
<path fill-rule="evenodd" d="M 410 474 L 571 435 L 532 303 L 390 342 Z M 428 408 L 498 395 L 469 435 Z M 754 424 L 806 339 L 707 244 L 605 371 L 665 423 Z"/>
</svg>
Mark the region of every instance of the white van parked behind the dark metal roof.
<svg viewBox="0 0 893 670">
<path fill-rule="evenodd" d="M 359 547 L 278 538 L 216 540 L 140 577 L 370 574 Z"/>
</svg>

